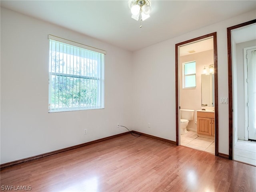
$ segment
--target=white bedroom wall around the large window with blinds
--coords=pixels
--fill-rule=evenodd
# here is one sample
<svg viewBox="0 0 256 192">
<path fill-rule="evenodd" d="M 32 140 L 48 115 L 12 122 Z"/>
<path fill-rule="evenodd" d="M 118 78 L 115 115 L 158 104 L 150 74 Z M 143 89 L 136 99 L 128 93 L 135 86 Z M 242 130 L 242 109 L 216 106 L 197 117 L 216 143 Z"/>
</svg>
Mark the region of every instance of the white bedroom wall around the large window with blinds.
<svg viewBox="0 0 256 192">
<path fill-rule="evenodd" d="M 48 113 L 48 34 L 106 50 L 105 109 Z M 131 58 L 126 50 L 1 8 L 1 164 L 127 131 L 117 123 L 131 128 Z"/>
</svg>

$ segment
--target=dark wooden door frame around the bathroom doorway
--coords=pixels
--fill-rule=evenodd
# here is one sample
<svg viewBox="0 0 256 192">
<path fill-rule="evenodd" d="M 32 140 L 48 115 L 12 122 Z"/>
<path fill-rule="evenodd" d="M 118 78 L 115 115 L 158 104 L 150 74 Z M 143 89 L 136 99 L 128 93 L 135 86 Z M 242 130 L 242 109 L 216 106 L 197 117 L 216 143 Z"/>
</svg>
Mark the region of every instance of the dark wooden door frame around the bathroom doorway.
<svg viewBox="0 0 256 192">
<path fill-rule="evenodd" d="M 194 39 L 190 39 L 184 42 L 175 44 L 175 73 L 176 73 L 176 145 L 179 145 L 179 53 L 178 48 L 181 45 L 192 43 L 194 41 L 202 40 L 204 38 L 213 37 L 214 46 L 214 115 L 215 115 L 215 155 L 218 156 L 218 57 L 217 57 L 217 32 L 210 33 L 204 36 L 200 36 Z"/>
</svg>

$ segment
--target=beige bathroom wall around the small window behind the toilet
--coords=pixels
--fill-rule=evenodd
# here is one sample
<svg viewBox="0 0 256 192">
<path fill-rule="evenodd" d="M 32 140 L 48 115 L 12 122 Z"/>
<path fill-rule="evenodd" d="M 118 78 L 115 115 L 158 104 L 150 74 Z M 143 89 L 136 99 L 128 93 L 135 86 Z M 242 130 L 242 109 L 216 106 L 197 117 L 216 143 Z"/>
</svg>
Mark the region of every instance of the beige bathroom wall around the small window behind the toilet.
<svg viewBox="0 0 256 192">
<path fill-rule="evenodd" d="M 182 88 L 182 65 L 185 62 L 196 61 L 196 88 L 183 89 Z M 204 66 L 214 64 L 213 50 L 203 51 L 199 53 L 189 54 L 180 57 L 180 108 L 193 109 L 194 119 L 188 122 L 187 128 L 197 131 L 197 112 L 202 109 L 202 95 L 201 95 L 201 74 L 203 74 Z"/>
</svg>

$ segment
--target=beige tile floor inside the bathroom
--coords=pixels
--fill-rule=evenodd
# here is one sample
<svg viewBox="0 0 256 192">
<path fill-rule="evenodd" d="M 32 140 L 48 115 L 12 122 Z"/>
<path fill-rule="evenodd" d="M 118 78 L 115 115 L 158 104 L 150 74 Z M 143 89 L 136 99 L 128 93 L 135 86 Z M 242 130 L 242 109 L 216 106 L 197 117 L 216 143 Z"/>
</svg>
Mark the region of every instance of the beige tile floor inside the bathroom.
<svg viewBox="0 0 256 192">
<path fill-rule="evenodd" d="M 194 131 L 180 135 L 180 145 L 215 154 L 214 139 L 198 137 L 197 132 Z"/>
</svg>

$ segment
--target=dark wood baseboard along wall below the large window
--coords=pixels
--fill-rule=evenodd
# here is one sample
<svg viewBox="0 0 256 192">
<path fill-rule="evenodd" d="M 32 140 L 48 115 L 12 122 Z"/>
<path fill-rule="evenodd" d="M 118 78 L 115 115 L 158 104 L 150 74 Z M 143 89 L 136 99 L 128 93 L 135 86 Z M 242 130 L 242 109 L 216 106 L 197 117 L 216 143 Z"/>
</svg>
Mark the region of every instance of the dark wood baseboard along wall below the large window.
<svg viewBox="0 0 256 192">
<path fill-rule="evenodd" d="M 82 144 L 79 144 L 79 145 L 63 148 L 63 149 L 60 149 L 60 150 L 56 150 L 56 151 L 52 151 L 52 152 L 48 152 L 48 153 L 44 153 L 44 154 L 40 154 L 40 155 L 28 157 L 28 158 L 16 160 L 16 161 L 4 163 L 4 164 L 0 165 L 0 170 L 8 168 L 8 167 L 11 167 L 11 166 L 14 166 L 14 165 L 19 165 L 19 164 L 22 164 L 22 163 L 38 160 L 38 159 L 41 159 L 41 158 L 44 158 L 44 157 L 56 155 L 58 153 L 66 152 L 66 151 L 69 151 L 69 150 L 72 150 L 72 149 L 76 149 L 76 148 L 80 148 L 80 147 L 83 147 L 83 146 L 86 146 L 86 145 L 98 143 L 98 142 L 101 142 L 101 141 L 104 141 L 104 140 L 116 138 L 116 137 L 119 137 L 119 136 L 122 136 L 122 135 L 126 135 L 126 134 L 129 134 L 129 133 L 130 132 L 124 132 L 124 133 L 120 133 L 120 134 L 117 134 L 117 135 L 113 135 L 113 136 L 97 139 L 97 140 L 94 140 L 94 141 L 82 143 Z"/>
</svg>

